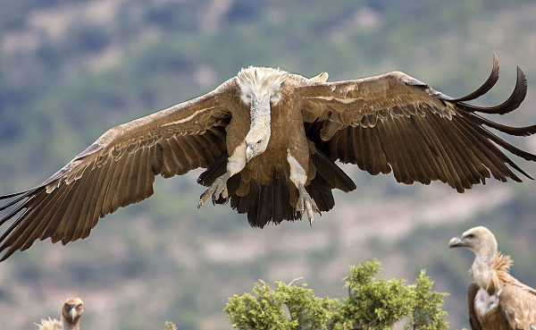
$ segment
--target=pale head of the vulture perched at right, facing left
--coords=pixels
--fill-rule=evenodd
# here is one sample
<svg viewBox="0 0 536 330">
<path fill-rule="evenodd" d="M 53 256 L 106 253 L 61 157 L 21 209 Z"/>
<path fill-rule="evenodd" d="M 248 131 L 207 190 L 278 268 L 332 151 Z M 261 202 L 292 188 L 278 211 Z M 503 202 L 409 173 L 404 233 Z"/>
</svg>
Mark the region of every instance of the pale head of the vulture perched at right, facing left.
<svg viewBox="0 0 536 330">
<path fill-rule="evenodd" d="M 488 228 L 479 226 L 469 229 L 461 236 L 454 237 L 448 242 L 448 247 L 467 248 L 472 250 L 477 257 L 493 258 L 497 252 L 497 240 Z"/>
</svg>

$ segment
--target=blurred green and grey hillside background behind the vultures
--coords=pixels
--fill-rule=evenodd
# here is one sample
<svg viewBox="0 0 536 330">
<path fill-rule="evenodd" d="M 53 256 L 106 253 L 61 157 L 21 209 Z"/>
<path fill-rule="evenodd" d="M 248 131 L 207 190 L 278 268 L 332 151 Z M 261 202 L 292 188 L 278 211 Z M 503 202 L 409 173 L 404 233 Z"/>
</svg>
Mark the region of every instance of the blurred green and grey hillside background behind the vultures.
<svg viewBox="0 0 536 330">
<path fill-rule="evenodd" d="M 536 123 L 536 3 L 527 1 L 5 0 L 0 3 L 0 194 L 43 182 L 113 125 L 205 94 L 248 65 L 348 80 L 399 70 L 451 97 L 501 79 L 528 96 L 500 123 Z M 508 140 L 536 152 L 534 137 Z M 536 165 L 513 157 L 533 176 Z M 197 209 L 201 170 L 157 178 L 155 195 L 106 216 L 88 239 L 34 243 L 0 264 L 0 327 L 29 329 L 85 303 L 85 329 L 229 329 L 230 296 L 303 276 L 344 298 L 349 266 L 378 258 L 387 278 L 421 269 L 450 292 L 451 328 L 468 327 L 468 250 L 448 240 L 474 225 L 496 234 L 513 275 L 536 286 L 536 183 L 488 182 L 464 194 L 406 186 L 345 165 L 357 190 L 307 221 L 251 228 L 229 206 Z M 2 228 L 6 229 L 6 225 Z"/>
</svg>

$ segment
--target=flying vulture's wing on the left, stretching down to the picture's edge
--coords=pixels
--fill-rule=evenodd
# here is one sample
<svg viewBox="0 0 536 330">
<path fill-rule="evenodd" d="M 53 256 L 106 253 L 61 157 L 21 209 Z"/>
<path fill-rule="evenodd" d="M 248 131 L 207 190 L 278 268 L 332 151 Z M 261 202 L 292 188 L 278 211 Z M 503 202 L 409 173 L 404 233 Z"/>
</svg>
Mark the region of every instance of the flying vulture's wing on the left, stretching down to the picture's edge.
<svg viewBox="0 0 536 330">
<path fill-rule="evenodd" d="M 0 220 L 13 224 L 0 236 L 0 261 L 37 239 L 86 238 L 98 218 L 147 199 L 155 175 L 169 178 L 208 167 L 226 152 L 233 79 L 202 97 L 106 131 L 89 148 L 37 187 L 1 196 L 18 205 Z"/>
</svg>

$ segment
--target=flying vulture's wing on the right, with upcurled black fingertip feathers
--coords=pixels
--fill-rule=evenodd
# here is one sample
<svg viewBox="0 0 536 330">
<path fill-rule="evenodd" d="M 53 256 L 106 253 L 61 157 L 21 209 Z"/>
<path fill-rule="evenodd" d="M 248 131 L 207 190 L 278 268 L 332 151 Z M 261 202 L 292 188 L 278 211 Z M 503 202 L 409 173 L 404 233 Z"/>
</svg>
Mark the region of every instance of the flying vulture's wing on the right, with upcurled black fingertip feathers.
<svg viewBox="0 0 536 330">
<path fill-rule="evenodd" d="M 536 125 L 509 127 L 476 114 L 506 114 L 526 94 L 526 78 L 517 68 L 514 92 L 499 106 L 483 108 L 465 101 L 482 96 L 498 80 L 493 55 L 490 78 L 472 94 L 448 97 L 403 72 L 362 80 L 316 83 L 297 88 L 303 97 L 306 134 L 331 160 L 352 163 L 371 174 L 389 173 L 411 184 L 440 180 L 459 192 L 485 183 L 490 173 L 505 182 L 521 179 L 508 167 L 524 173 L 498 146 L 516 156 L 536 156 L 500 139 L 483 125 L 509 135 L 526 136 Z"/>
</svg>

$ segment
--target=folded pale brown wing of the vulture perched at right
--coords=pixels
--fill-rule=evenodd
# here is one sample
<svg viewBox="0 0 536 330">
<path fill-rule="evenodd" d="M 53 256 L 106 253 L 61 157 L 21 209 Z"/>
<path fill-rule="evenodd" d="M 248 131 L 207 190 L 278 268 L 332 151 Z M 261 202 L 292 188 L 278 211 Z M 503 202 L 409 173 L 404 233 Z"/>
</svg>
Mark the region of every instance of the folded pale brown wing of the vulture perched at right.
<svg viewBox="0 0 536 330">
<path fill-rule="evenodd" d="M 508 285 L 500 293 L 499 309 L 512 329 L 536 326 L 536 291 L 523 283 Z"/>
</svg>

